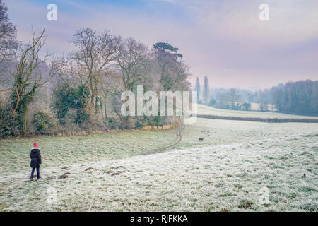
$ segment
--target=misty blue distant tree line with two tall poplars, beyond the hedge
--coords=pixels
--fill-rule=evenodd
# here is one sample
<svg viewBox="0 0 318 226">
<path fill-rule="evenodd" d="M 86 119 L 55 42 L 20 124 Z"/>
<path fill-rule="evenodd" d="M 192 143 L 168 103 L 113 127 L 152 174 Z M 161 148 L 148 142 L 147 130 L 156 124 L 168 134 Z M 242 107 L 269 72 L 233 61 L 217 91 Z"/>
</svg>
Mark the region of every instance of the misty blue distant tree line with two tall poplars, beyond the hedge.
<svg viewBox="0 0 318 226">
<path fill-rule="evenodd" d="M 199 78 L 196 78 L 194 90 L 198 92 L 199 103 L 220 109 L 249 111 L 251 103 L 257 103 L 258 110 L 262 112 L 275 110 L 289 114 L 318 115 L 318 81 L 290 81 L 253 92 L 240 88 L 208 88 L 208 78 L 205 76 L 203 92 Z"/>
</svg>

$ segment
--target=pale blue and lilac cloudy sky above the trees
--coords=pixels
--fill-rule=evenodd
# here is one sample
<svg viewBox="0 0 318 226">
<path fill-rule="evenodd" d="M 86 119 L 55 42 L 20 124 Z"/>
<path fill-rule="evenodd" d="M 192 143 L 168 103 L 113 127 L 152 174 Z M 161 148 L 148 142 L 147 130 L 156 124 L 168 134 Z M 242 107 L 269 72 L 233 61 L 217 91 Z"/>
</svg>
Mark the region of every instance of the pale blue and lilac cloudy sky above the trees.
<svg viewBox="0 0 318 226">
<path fill-rule="evenodd" d="M 45 51 L 72 49 L 78 28 L 110 30 L 153 47 L 179 48 L 201 84 L 211 87 L 270 88 L 278 83 L 318 80 L 317 0 L 4 0 L 18 39 L 30 40 L 31 26 L 46 28 Z M 57 21 L 47 5 L 57 4 Z M 269 21 L 259 5 L 269 5 Z"/>
</svg>

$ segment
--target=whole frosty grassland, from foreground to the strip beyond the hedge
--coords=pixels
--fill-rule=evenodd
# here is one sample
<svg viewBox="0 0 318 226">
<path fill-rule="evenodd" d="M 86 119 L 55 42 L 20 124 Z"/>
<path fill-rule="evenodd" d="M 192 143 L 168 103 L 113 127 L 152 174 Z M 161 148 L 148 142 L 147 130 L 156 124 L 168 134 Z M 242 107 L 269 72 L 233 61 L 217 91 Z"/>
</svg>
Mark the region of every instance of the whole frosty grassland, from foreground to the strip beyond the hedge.
<svg viewBox="0 0 318 226">
<path fill-rule="evenodd" d="M 156 153 L 176 139 L 169 130 L 2 140 L 0 211 L 318 211 L 318 124 L 198 119 Z M 35 140 L 43 179 L 30 181 Z"/>
</svg>

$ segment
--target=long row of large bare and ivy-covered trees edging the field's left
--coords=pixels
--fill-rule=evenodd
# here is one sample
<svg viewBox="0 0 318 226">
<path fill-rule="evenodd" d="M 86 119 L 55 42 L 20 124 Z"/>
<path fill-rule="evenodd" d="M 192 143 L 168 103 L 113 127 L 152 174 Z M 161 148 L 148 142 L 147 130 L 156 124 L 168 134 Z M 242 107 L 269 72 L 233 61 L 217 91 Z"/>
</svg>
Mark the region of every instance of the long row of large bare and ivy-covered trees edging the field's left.
<svg viewBox="0 0 318 226">
<path fill-rule="evenodd" d="M 124 117 L 124 90 L 189 90 L 189 67 L 177 47 L 151 49 L 133 37 L 81 28 L 60 57 L 42 55 L 45 29 L 28 44 L 0 0 L 0 137 L 131 129 L 171 124 L 173 117 Z M 64 57 L 66 56 L 66 57 Z"/>
</svg>

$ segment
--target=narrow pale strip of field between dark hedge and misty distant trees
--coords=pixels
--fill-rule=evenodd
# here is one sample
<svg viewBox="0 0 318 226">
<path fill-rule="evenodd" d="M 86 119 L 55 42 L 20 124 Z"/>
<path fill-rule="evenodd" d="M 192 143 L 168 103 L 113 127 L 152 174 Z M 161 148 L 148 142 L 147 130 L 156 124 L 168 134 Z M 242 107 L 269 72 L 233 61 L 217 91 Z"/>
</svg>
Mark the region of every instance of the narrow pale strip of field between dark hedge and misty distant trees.
<svg viewBox="0 0 318 226">
<path fill-rule="evenodd" d="M 198 105 L 198 114 L 210 114 L 216 116 L 226 117 L 254 117 L 254 118 L 298 118 L 298 119 L 318 119 L 318 117 L 295 115 L 295 114 L 283 114 L 276 112 L 249 112 L 249 111 L 235 111 L 228 109 L 218 109 L 214 107 L 208 107 L 206 105 Z"/>
</svg>

